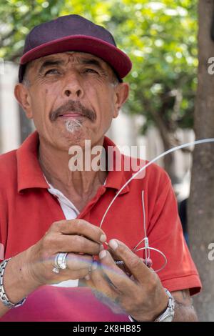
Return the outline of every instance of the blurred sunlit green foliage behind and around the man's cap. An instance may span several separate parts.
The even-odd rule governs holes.
[[[125,111],[160,129],[165,147],[177,127],[193,126],[197,85],[196,0],[7,0],[0,4],[0,57],[19,61],[24,38],[43,21],[81,14],[109,29],[133,61]]]

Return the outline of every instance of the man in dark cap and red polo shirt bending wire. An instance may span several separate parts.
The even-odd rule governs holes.
[[[163,169],[153,164],[133,179],[100,227],[133,172],[69,164],[72,146],[86,152],[86,140],[91,158],[95,146],[115,146],[104,134],[128,98],[122,79],[130,70],[109,31],[81,16],[27,36],[14,93],[36,132],[0,157],[2,321],[197,320],[190,295],[200,280]],[[152,269],[142,250],[133,252],[143,220],[151,246],[168,260],[158,275],[160,255]]]

